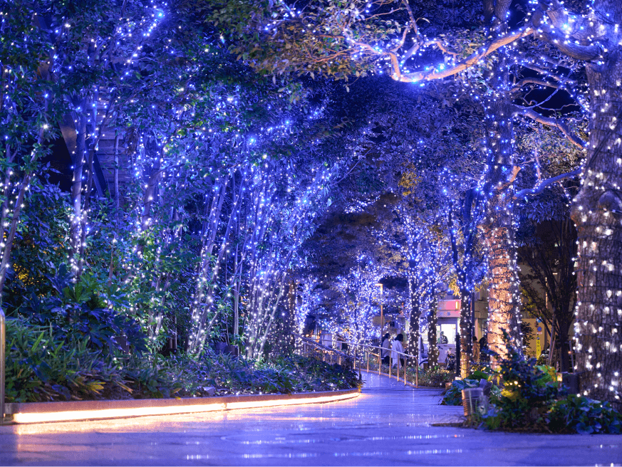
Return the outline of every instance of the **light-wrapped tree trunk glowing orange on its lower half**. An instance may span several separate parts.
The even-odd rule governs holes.
[[[489,202],[482,228],[488,258],[488,348],[503,358],[507,355],[504,332],[514,347],[521,348],[520,287],[512,225],[512,182],[517,170],[512,160],[514,129],[511,103],[492,100],[486,104],[489,172],[484,189]],[[494,367],[497,359],[492,358],[491,362]]]

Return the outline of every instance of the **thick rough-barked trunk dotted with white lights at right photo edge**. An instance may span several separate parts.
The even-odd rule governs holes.
[[[574,325],[581,393],[622,409],[622,46],[586,65],[590,136],[573,200],[579,248]]]

